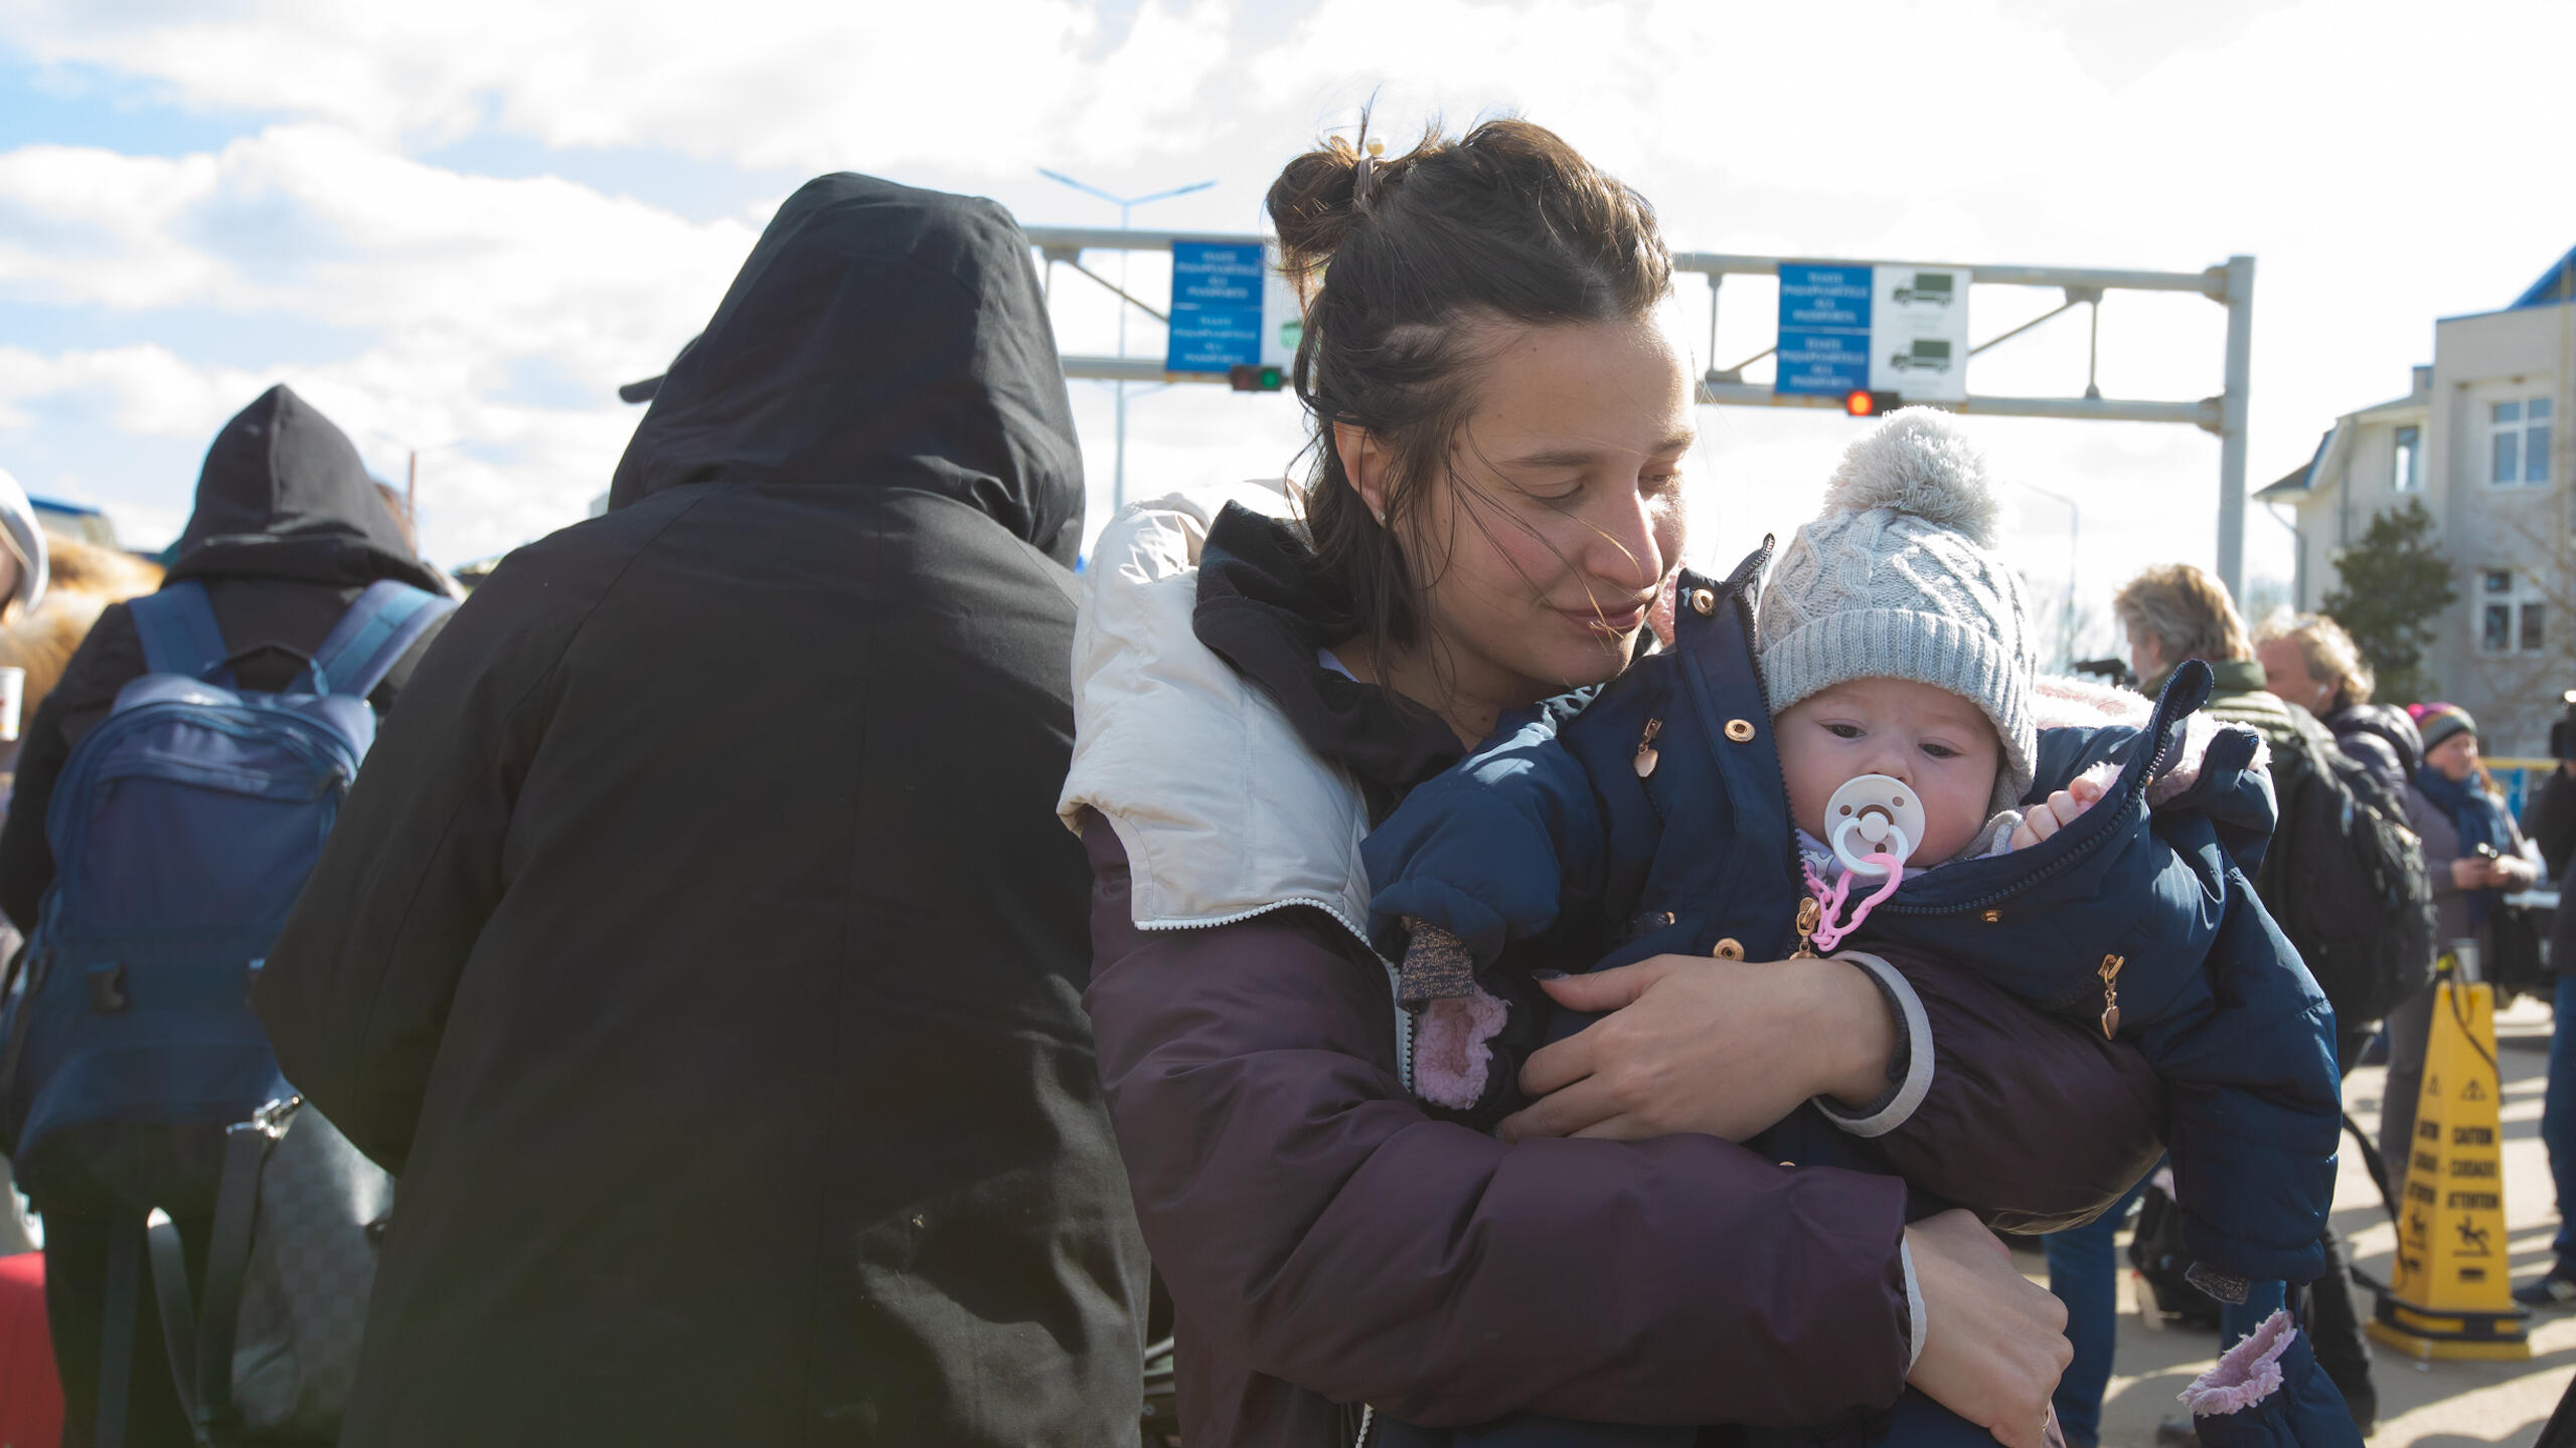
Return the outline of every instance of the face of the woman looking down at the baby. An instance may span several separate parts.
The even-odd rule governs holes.
[[[1646,319],[1507,332],[1406,559],[1466,709],[1600,683],[1682,554],[1690,374]]]

